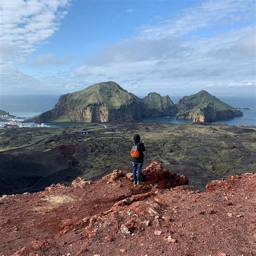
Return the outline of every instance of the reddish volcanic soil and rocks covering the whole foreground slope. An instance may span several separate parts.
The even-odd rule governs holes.
[[[256,174],[192,191],[158,162],[0,198],[1,255],[253,255]],[[172,187],[177,186],[177,187]],[[222,253],[222,254],[221,254]]]

